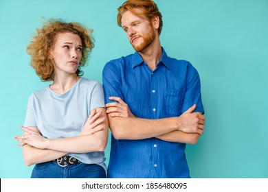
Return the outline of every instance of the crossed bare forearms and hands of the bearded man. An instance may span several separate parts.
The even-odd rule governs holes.
[[[115,139],[156,137],[164,141],[194,144],[203,134],[205,117],[201,112],[193,112],[195,105],[179,117],[142,119],[135,117],[120,97],[109,99],[118,101],[106,105],[110,129]]]

